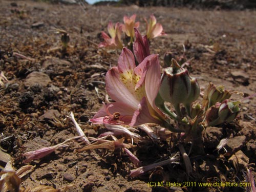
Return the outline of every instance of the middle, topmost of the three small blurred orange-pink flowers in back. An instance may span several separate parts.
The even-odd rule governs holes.
[[[132,15],[131,17],[127,17],[126,15],[123,17],[123,27],[122,30],[125,34],[132,39],[135,37],[134,28],[138,28],[140,26],[139,22],[135,23],[136,14]]]

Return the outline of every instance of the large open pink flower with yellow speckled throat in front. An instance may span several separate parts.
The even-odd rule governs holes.
[[[106,73],[106,91],[116,102],[104,104],[90,119],[95,124],[164,122],[165,115],[155,105],[160,87],[160,65],[157,55],[147,56],[137,67],[133,53],[123,48],[118,66]]]

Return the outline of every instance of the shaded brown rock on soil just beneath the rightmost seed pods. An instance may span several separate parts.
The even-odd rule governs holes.
[[[209,126],[203,133],[204,145],[206,148],[216,148],[223,136],[222,128]]]

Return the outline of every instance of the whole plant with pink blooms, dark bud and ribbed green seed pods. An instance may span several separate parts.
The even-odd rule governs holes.
[[[122,49],[117,67],[105,76],[106,92],[115,102],[103,104],[90,121],[129,126],[155,123],[170,131],[190,133],[196,132],[198,125],[215,126],[234,120],[240,111],[239,102],[229,99],[234,92],[209,83],[200,103],[197,79],[167,53],[164,62],[170,67],[161,75],[158,55],[150,53],[149,41],[164,34],[162,25],[151,15],[149,22],[146,20],[146,35],[141,36],[135,19],[136,15],[124,16],[124,24],[114,27],[109,23],[110,36],[102,32],[105,41],[101,47],[121,48],[121,32],[130,37],[133,47],[132,51]]]

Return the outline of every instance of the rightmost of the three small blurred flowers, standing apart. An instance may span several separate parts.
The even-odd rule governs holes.
[[[148,39],[153,39],[155,37],[165,35],[163,31],[163,26],[161,24],[157,24],[157,19],[153,14],[150,16],[150,23],[148,24],[146,19],[145,22],[146,36]]]

